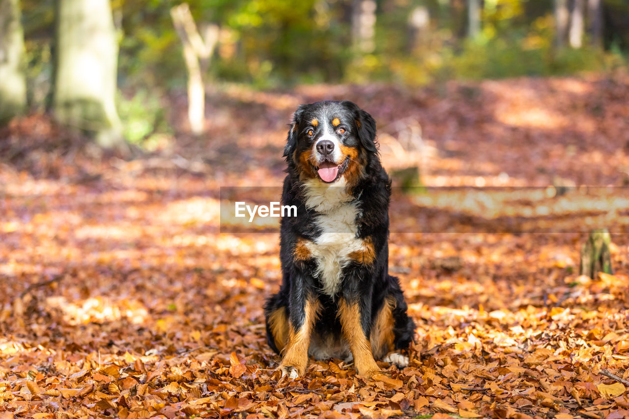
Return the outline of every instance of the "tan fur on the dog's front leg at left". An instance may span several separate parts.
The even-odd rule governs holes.
[[[310,346],[310,337],[312,335],[315,321],[318,318],[320,310],[320,303],[318,299],[306,300],[306,306],[304,307],[304,323],[299,330],[294,330],[292,325],[289,325],[288,343],[284,347],[284,358],[279,368],[293,367],[297,369],[300,376],[306,373],[306,367],[308,367],[308,347]],[[290,321],[289,321],[290,323]]]

